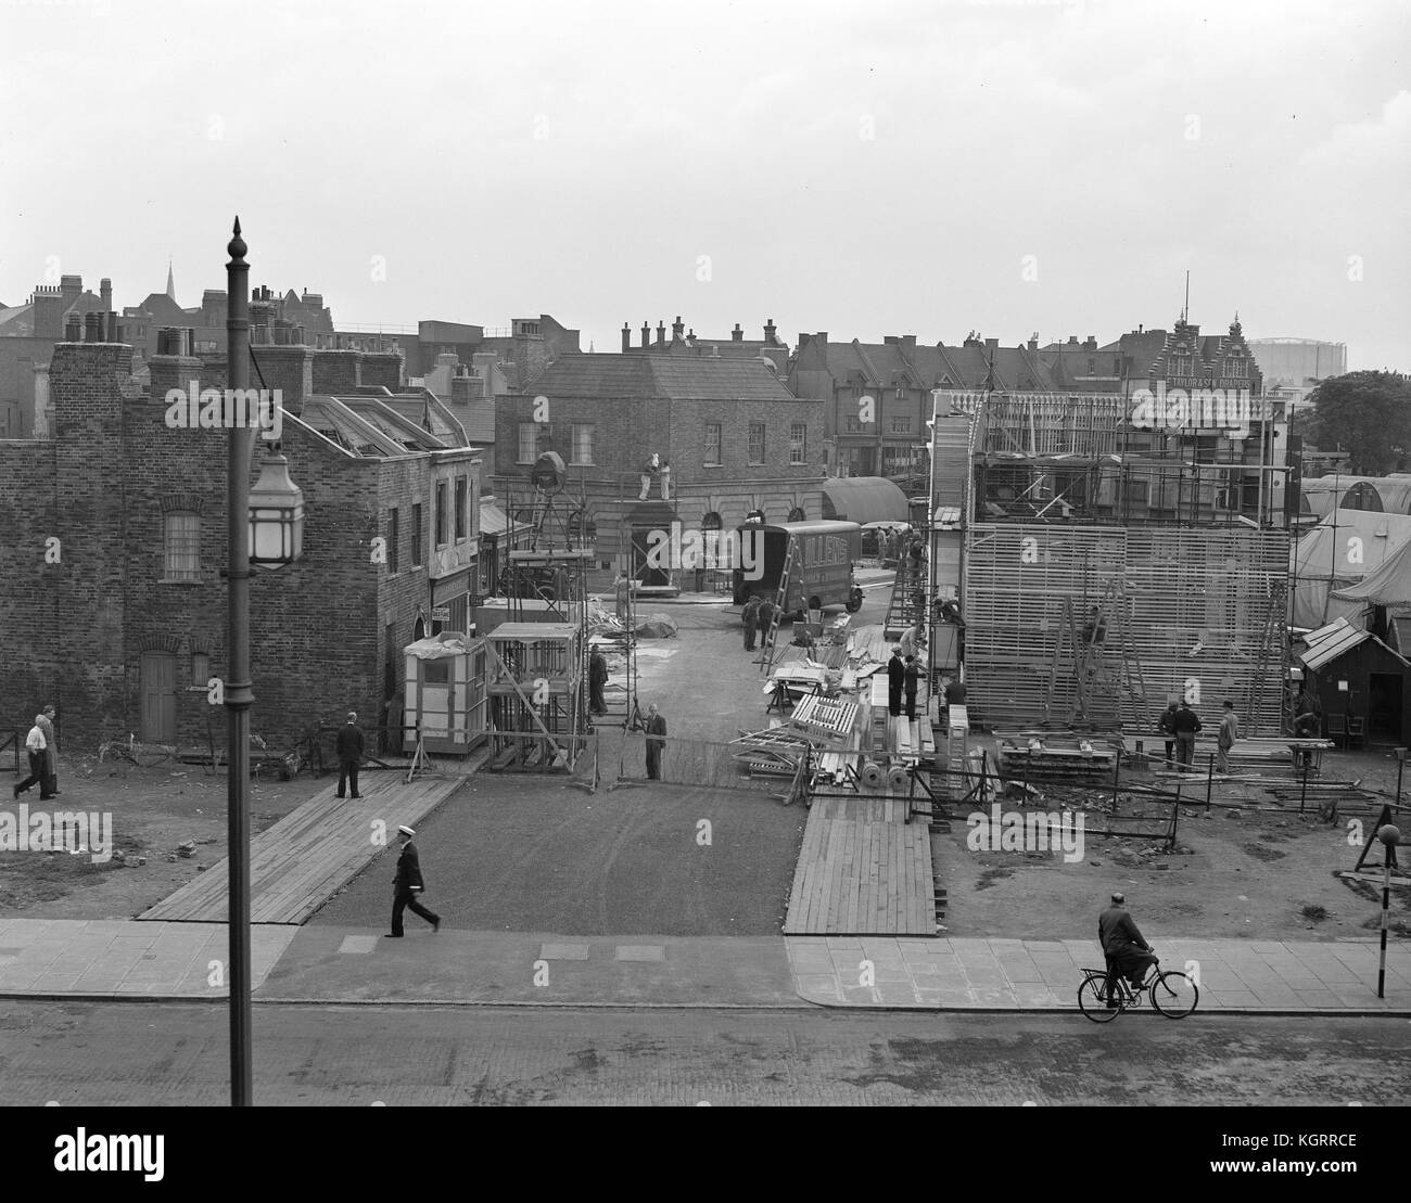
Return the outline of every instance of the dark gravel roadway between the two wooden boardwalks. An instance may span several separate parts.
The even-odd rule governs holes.
[[[426,905],[447,928],[777,935],[804,818],[753,790],[652,783],[587,794],[480,773],[418,825],[416,846]],[[394,863],[384,852],[310,922],[387,924]]]

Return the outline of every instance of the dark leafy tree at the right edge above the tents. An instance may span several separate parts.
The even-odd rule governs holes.
[[[1309,399],[1318,448],[1349,451],[1355,475],[1386,475],[1411,450],[1411,381],[1404,375],[1348,372],[1324,381]]]

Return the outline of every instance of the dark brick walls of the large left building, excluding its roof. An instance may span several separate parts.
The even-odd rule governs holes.
[[[189,381],[195,370],[198,388],[224,385],[214,374],[202,379],[199,361],[166,367],[172,379],[181,372]],[[220,568],[229,436],[168,429],[162,393],[133,396],[128,368],[128,347],[61,344],[51,370],[55,437],[0,443],[0,721],[32,716],[40,701],[54,700],[73,746],[140,732],[143,654],[171,653],[178,742],[205,745],[213,722],[223,746],[224,711],[186,687],[199,684],[193,653],[227,677]],[[305,494],[303,558],[257,570],[250,587],[253,729],[275,747],[349,709],[374,726],[385,616],[394,618],[399,668],[416,605],[429,598],[425,567],[411,568],[405,546],[402,571],[389,578],[373,563],[371,542],[385,533],[385,498],[428,502],[429,457],[350,457],[295,419],[285,422],[284,453]],[[199,513],[195,584],[162,580],[174,508]],[[426,512],[429,520],[429,503]],[[409,537],[409,501],[402,532]],[[59,564],[44,563],[49,533],[62,540]]]

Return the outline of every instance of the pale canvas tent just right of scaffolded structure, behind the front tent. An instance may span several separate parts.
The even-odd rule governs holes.
[[[1366,601],[1346,590],[1379,574],[1411,546],[1411,516],[1336,509],[1290,550],[1292,625],[1319,628],[1336,618],[1362,626]],[[1411,561],[1407,563],[1411,570]]]

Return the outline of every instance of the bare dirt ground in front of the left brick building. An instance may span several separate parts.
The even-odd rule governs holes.
[[[7,769],[10,766],[6,766]],[[0,774],[0,808],[18,815],[40,810],[111,814],[113,846],[106,863],[66,852],[0,852],[0,914],[52,920],[126,920],[141,914],[226,856],[226,773],[200,764],[143,769],[96,756],[63,756],[59,795],[41,802],[38,790],[14,800],[11,773]],[[289,781],[253,778],[251,829],[264,831],[333,781],[302,774]],[[168,860],[179,843],[195,855]],[[138,865],[145,857],[145,865]]]

